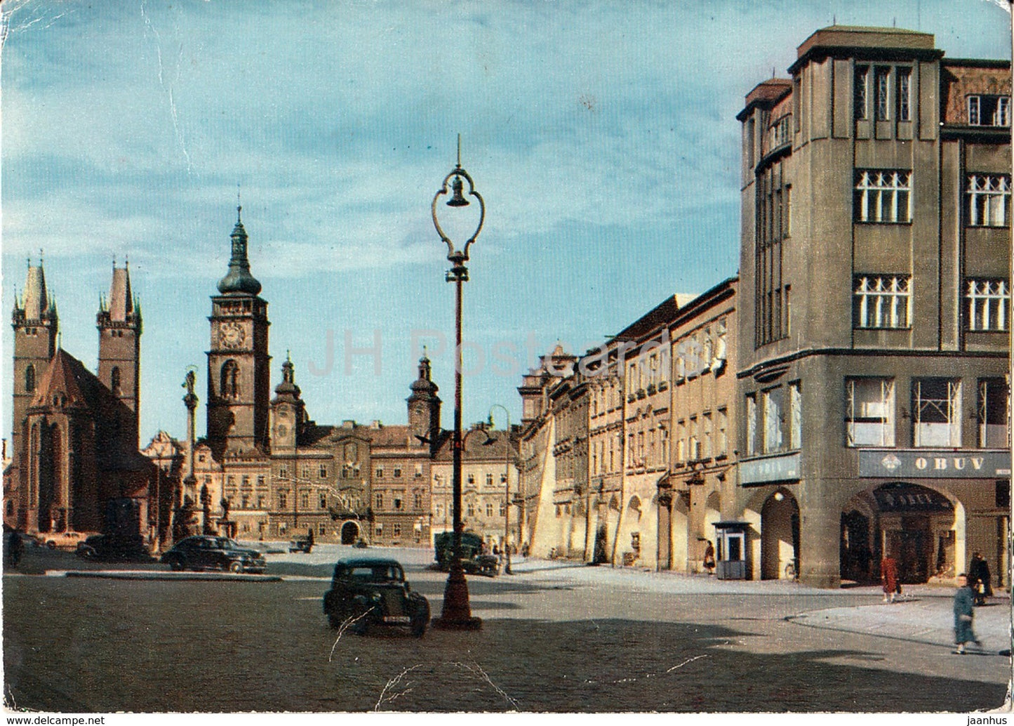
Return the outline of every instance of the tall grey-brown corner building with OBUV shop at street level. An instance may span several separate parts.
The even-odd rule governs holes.
[[[738,502],[753,577],[1007,562],[1010,64],[832,26],[742,122]],[[724,507],[723,507],[724,509]],[[791,569],[789,569],[791,566]]]

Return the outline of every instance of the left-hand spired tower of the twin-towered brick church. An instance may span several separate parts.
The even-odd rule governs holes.
[[[10,452],[14,468],[11,481],[17,481],[18,454],[21,446],[21,425],[39,383],[57,352],[57,334],[60,330],[56,301],[46,288],[43,263],[32,267],[20,299],[14,299],[11,315],[14,328],[14,403],[11,410],[12,431]]]

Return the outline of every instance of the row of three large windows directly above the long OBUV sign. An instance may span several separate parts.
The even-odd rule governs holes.
[[[894,446],[897,408],[893,378],[846,380],[846,442],[849,446]],[[1001,448],[1007,442],[1007,383],[977,381],[976,445]],[[912,381],[914,446],[961,446],[962,381],[919,378]],[[902,416],[910,415],[902,412]]]

